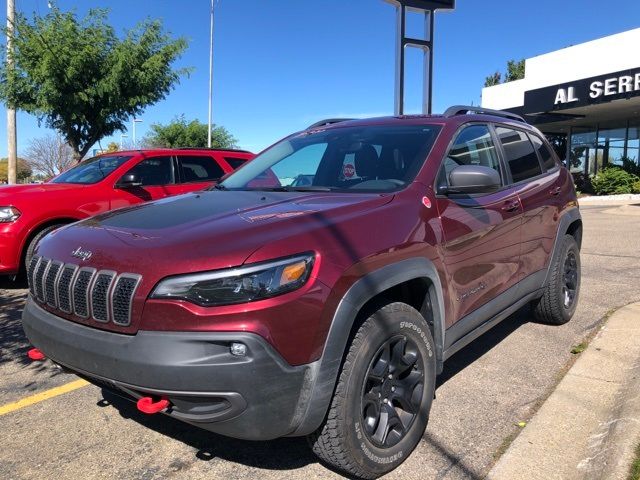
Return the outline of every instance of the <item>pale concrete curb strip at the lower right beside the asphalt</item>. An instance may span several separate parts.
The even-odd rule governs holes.
[[[640,441],[640,302],[616,311],[489,480],[627,478]]]

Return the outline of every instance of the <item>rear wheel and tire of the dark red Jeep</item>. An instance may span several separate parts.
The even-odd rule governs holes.
[[[532,302],[533,314],[541,323],[563,325],[573,317],[580,295],[580,248],[575,238],[565,235],[552,261],[544,293]]]

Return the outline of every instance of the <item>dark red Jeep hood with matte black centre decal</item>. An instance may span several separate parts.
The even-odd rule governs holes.
[[[63,227],[40,243],[38,253],[98,269],[141,273],[155,281],[240,265],[264,245],[325,228],[329,220],[359,215],[391,198],[362,193],[197,192]],[[91,251],[88,261],[78,262],[71,255],[78,247]]]

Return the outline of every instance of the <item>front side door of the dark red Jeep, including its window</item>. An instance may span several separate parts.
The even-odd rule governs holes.
[[[438,184],[448,185],[461,165],[493,168],[507,185],[493,135],[487,125],[474,124],[457,135],[443,159]],[[436,200],[444,242],[450,327],[518,281],[522,206],[515,189],[487,195],[449,195]]]

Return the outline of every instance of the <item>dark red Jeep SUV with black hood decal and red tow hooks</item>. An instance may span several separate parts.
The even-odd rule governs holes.
[[[319,122],[207,191],[46,236],[24,329],[144,412],[305,435],[374,478],[419,443],[447,358],[525,305],[571,318],[581,236],[571,175],[518,116]]]

